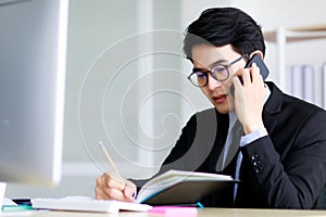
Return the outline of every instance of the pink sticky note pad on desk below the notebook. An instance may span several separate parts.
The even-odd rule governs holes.
[[[197,207],[186,206],[154,206],[149,209],[150,214],[164,214],[164,217],[197,217]]]

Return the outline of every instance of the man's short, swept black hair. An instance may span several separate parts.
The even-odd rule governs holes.
[[[236,8],[212,8],[203,11],[186,29],[184,52],[187,59],[192,61],[192,47],[200,43],[216,47],[231,44],[240,54],[260,50],[265,55],[261,26]]]

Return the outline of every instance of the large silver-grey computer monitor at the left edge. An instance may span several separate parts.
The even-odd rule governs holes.
[[[0,0],[0,181],[61,180],[68,0]]]

